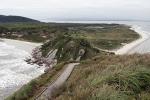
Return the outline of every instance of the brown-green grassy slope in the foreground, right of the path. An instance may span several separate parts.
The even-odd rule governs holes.
[[[82,62],[56,100],[149,100],[150,55],[103,56]]]

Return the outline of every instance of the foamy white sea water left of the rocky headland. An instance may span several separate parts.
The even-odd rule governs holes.
[[[44,72],[44,68],[24,61],[29,56],[22,49],[0,42],[0,100]]]

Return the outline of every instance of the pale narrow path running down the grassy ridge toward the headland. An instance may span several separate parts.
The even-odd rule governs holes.
[[[52,94],[56,92],[69,78],[71,75],[74,67],[78,65],[79,63],[70,63],[68,64],[67,68],[65,71],[58,77],[58,79],[51,85],[47,87],[47,89],[39,96],[36,98],[36,100],[51,100]]]

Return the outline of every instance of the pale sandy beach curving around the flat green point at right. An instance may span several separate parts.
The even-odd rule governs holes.
[[[117,55],[130,54],[131,49],[135,48],[136,46],[146,41],[150,37],[150,35],[148,35],[148,32],[143,31],[140,26],[132,25],[131,29],[137,32],[140,35],[140,38],[114,51],[115,54]]]

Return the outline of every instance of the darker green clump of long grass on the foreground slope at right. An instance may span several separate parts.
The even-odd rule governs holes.
[[[150,86],[150,70],[140,68],[138,70],[115,73],[107,79],[107,83],[124,93],[139,94]]]

